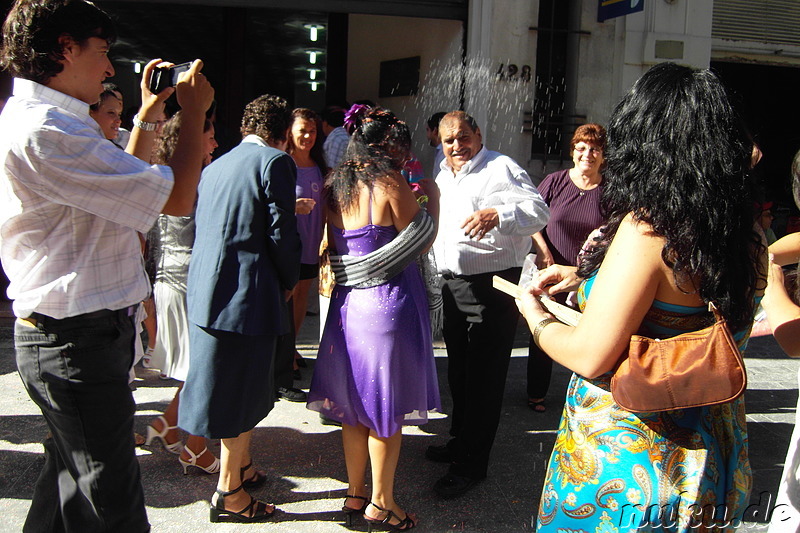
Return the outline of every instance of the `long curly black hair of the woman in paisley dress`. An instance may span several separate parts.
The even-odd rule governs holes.
[[[677,285],[713,301],[734,331],[753,320],[765,253],[750,180],[753,143],[719,79],[672,63],[650,69],[608,126],[605,236],[581,265],[599,268],[623,218],[648,223]]]

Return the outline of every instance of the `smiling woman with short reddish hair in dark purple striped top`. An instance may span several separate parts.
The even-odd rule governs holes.
[[[603,223],[600,193],[606,130],[600,124],[584,124],[575,130],[570,142],[574,166],[548,174],[539,184],[539,194],[550,207],[547,226],[533,236],[536,266],[578,265],[578,252],[586,238]],[[567,295],[556,299],[566,303]],[[533,340],[528,342],[528,407],[544,412],[550,388],[553,360]]]

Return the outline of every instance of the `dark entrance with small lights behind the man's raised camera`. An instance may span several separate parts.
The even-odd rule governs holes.
[[[140,105],[139,70],[149,59],[175,63],[203,59],[203,72],[216,90],[218,154],[238,143],[242,110],[258,95],[276,94],[292,107],[321,109],[327,97],[344,93],[339,84],[345,78],[338,71],[346,71],[342,42],[346,43],[347,30],[341,16],[228,7],[222,2],[216,6],[106,2],[102,7],[117,22],[119,39],[111,53],[116,75],[108,81],[122,88],[126,109],[135,111]],[[337,39],[333,54],[331,36]],[[330,67],[337,72],[329,75]],[[170,114],[176,109],[167,107]]]

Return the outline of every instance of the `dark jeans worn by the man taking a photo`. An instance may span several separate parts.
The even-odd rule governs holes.
[[[17,369],[52,436],[25,532],[149,531],[128,388],[127,309],[17,320]]]

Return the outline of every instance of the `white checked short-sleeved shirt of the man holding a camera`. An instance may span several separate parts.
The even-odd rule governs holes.
[[[18,317],[121,309],[150,292],[136,232],[172,190],[172,170],[103,138],[80,100],[15,79],[0,114],[0,259]]]

